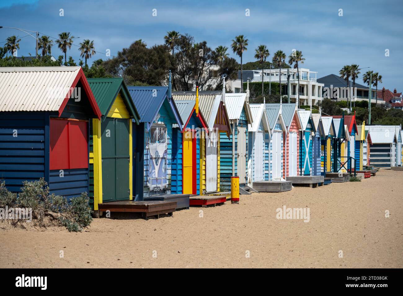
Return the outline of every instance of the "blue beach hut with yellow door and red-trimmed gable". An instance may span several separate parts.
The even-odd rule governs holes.
[[[197,97],[197,95],[196,95]],[[178,128],[174,124],[174,141],[178,151],[182,151],[182,167],[175,170],[177,182],[172,184],[172,193],[197,195],[200,191],[200,139],[202,130],[208,131],[206,120],[199,110],[196,100],[175,101],[183,125]]]

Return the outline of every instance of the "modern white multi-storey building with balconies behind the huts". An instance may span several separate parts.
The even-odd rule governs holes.
[[[287,70],[290,74],[290,85],[291,93],[290,98],[296,99],[297,88],[298,88],[298,76],[297,69],[264,69],[263,70],[263,81],[264,82],[276,82],[280,81],[283,86],[282,94],[288,95],[287,89]],[[318,101],[322,101],[322,89],[324,87],[323,83],[318,83],[316,81],[316,75],[318,72],[310,71],[306,68],[299,68],[299,101],[303,105],[310,105],[312,100],[312,105],[316,105]],[[249,82],[262,82],[262,69],[256,70],[243,70],[242,80],[245,83],[248,79]],[[227,81],[227,89],[233,93],[239,93],[241,91],[241,71],[238,71],[237,80]]]

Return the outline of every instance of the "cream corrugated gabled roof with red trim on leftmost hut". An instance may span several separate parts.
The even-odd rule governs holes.
[[[71,89],[81,82],[91,108],[101,112],[81,67],[0,68],[1,111],[58,111],[62,114]]]

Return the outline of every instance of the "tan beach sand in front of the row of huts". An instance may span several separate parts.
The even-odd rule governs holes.
[[[242,195],[239,205],[173,217],[112,213],[82,233],[0,223],[0,268],[402,268],[402,181],[403,172],[380,170],[361,182]],[[309,208],[310,221],[276,219],[283,205]]]

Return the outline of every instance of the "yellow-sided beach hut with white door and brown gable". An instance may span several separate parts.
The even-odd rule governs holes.
[[[227,139],[232,133],[224,102],[225,92],[199,91],[199,110],[204,115],[208,134],[202,131],[200,143],[199,195],[220,191],[220,134]],[[174,101],[195,100],[195,91],[172,92]]]

